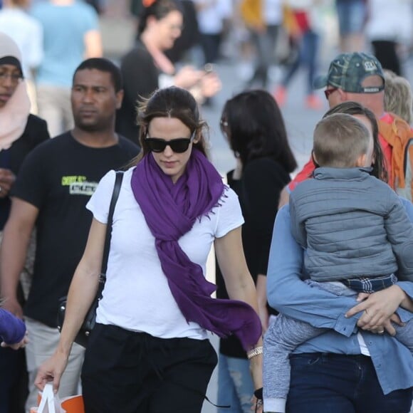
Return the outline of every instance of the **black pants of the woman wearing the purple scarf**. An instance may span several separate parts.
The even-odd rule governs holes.
[[[216,366],[209,340],[93,329],[82,371],[86,413],[197,413]]]

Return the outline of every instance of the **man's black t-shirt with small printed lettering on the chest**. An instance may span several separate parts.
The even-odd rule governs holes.
[[[66,132],[36,147],[23,162],[12,196],[39,209],[25,315],[56,327],[58,299],[68,293],[88,238],[92,214],[85,205],[103,175],[124,167],[137,152],[124,137],[117,145],[96,148]]]

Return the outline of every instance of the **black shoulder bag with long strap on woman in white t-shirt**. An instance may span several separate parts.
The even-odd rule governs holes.
[[[106,268],[108,268],[108,256],[110,249],[110,237],[112,234],[112,221],[113,221],[113,211],[115,211],[115,205],[117,202],[117,197],[119,197],[120,186],[122,185],[123,172],[116,172],[115,186],[113,187],[112,199],[110,199],[109,206],[109,215],[108,215],[108,224],[106,225],[106,236],[105,236],[105,248],[103,249],[103,261],[102,261],[102,270],[100,271],[99,277],[99,287],[96,297],[93,300],[92,305],[88,310],[88,313],[83,320],[83,324],[80,327],[78,335],[76,335],[75,343],[86,347],[88,345],[88,338],[90,332],[95,327],[96,321],[96,309],[98,308],[100,298],[102,298],[103,288],[105,287],[106,281]],[[66,302],[68,297],[62,297],[59,300],[59,309],[58,309],[58,330],[62,330],[63,321],[65,319],[66,312]]]

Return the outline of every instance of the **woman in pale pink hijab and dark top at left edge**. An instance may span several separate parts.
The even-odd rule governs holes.
[[[49,138],[46,122],[29,110],[19,48],[9,36],[0,33],[0,231],[9,216],[9,192],[24,158]],[[16,392],[16,388],[25,388],[21,382],[26,375],[23,351],[0,348],[0,413],[23,412],[26,397]]]

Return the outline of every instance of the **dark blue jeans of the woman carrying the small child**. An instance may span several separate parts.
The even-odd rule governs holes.
[[[383,394],[370,357],[291,355],[287,413],[408,413],[412,389]]]

